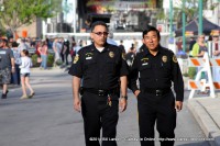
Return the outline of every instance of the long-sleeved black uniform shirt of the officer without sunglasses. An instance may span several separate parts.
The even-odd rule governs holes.
[[[133,92],[138,90],[139,72],[140,89],[166,89],[172,87],[173,81],[176,100],[183,101],[183,76],[172,50],[158,46],[158,53],[153,56],[145,47],[143,52],[136,54],[130,75],[130,88]]]

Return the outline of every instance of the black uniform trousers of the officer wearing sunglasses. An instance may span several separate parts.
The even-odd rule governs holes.
[[[119,119],[119,100],[111,94],[111,106],[107,104],[108,96],[85,91],[81,97],[81,112],[86,146],[117,146],[117,124]],[[100,130],[102,137],[100,138]]]

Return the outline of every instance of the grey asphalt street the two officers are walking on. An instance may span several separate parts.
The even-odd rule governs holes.
[[[73,110],[72,77],[67,71],[58,68],[33,69],[31,83],[35,90],[33,99],[20,100],[21,88],[10,87],[8,99],[0,100],[0,146],[84,146],[82,117]],[[217,141],[209,143],[207,137],[219,132],[219,116],[211,116],[219,115],[219,99],[196,98],[188,101],[188,93],[186,90],[184,109],[177,113],[175,145],[215,144]],[[119,113],[118,145],[140,146],[136,99],[131,91],[128,102],[127,111]],[[194,105],[195,102],[197,105]],[[199,112],[201,106],[206,113]],[[218,123],[216,127],[211,126],[209,133],[200,124],[201,121],[208,121],[204,119],[205,115],[211,116],[215,124]],[[210,121],[206,124],[209,125]],[[158,146],[157,133],[155,138]]]

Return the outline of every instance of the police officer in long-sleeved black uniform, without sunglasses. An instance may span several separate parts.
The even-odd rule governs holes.
[[[173,146],[176,111],[184,100],[184,81],[174,53],[160,45],[160,32],[148,26],[143,31],[145,47],[138,53],[130,76],[130,88],[138,98],[140,141],[154,146],[154,125],[162,146]],[[140,74],[140,77],[139,77]],[[140,88],[136,86],[139,78]],[[172,82],[176,98],[172,92]]]

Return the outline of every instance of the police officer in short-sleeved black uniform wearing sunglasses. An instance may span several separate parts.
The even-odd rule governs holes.
[[[74,109],[80,111],[81,105],[87,146],[100,146],[100,128],[102,146],[117,146],[119,106],[122,112],[127,109],[128,66],[122,50],[107,43],[105,22],[97,21],[91,25],[90,37],[94,43],[78,52],[69,69],[74,76]]]

